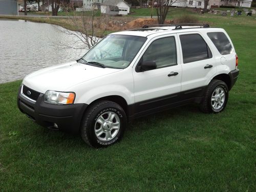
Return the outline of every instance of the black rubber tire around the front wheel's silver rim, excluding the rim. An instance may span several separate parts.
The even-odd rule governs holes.
[[[109,146],[112,145],[113,143],[116,143],[118,140],[120,140],[123,136],[125,127],[126,127],[126,115],[124,113],[124,111],[119,107],[119,105],[117,106],[102,106],[101,108],[95,110],[92,115],[89,117],[89,123],[88,123],[88,135],[90,137],[90,141],[91,144],[95,147],[105,147],[105,146]],[[95,135],[95,123],[96,120],[98,119],[98,117],[100,115],[102,115],[105,112],[114,112],[118,115],[119,120],[120,120],[120,128],[119,131],[117,133],[117,135],[111,139],[110,141],[101,141],[97,138],[97,136]]]

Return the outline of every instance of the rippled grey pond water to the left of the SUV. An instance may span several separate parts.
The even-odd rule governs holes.
[[[77,37],[61,30],[65,31],[51,24],[0,19],[0,83],[23,79],[33,71],[77,59],[87,52],[69,48],[75,46]]]

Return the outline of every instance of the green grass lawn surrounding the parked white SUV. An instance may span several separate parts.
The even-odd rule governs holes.
[[[95,150],[20,113],[22,81],[0,84],[0,191],[255,191],[255,16],[196,16],[224,28],[239,56],[222,113],[171,109],[130,123],[121,142]]]

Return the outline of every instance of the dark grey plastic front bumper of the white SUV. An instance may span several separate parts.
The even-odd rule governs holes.
[[[54,123],[59,130],[78,133],[87,104],[57,105],[44,102],[44,94],[40,94],[37,101],[25,98],[19,88],[18,109],[41,126],[52,128]]]

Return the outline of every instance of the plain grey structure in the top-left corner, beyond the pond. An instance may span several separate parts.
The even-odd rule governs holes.
[[[17,15],[17,0],[0,0],[0,15]]]

